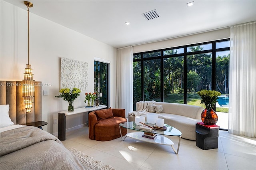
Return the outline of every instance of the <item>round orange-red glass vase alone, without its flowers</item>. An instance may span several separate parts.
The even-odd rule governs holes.
[[[201,114],[201,120],[205,125],[215,125],[218,122],[218,115],[211,109],[204,109]]]

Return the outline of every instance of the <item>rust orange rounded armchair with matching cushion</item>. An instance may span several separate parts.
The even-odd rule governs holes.
[[[121,137],[119,124],[127,122],[125,109],[103,109],[92,111],[88,115],[89,138],[107,141]],[[122,136],[127,129],[121,127]]]

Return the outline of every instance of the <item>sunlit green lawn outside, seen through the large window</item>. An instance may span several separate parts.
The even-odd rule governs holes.
[[[187,104],[188,105],[196,105],[205,108],[204,104],[201,104],[201,98],[197,93],[188,93],[187,94]],[[154,101],[160,101],[160,99],[152,99]],[[184,95],[183,94],[169,94],[167,97],[164,98],[164,102],[169,103],[184,103]],[[224,112],[228,113],[228,108],[223,107],[216,107],[216,112]]]

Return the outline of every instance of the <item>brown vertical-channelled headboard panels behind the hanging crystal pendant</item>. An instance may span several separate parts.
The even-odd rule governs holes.
[[[14,124],[42,121],[42,82],[35,82],[35,97],[31,113],[26,113],[22,98],[22,81],[0,81],[0,105],[9,105]]]

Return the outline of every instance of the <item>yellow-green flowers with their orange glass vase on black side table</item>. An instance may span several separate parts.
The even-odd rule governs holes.
[[[197,94],[201,97],[201,103],[205,104],[205,109],[202,111],[201,120],[205,125],[215,125],[218,121],[218,115],[212,109],[216,102],[218,102],[218,96],[220,92],[215,90],[201,90]]]

